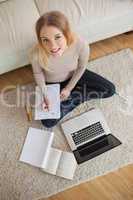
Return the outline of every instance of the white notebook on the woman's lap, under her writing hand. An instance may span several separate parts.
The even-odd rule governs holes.
[[[35,120],[60,118],[60,85],[48,84],[46,87],[47,87],[47,96],[51,102],[51,108],[49,111],[43,110],[42,91],[40,87],[36,86]]]

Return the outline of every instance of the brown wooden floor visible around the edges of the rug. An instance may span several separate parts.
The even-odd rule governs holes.
[[[90,60],[116,52],[133,50],[133,32],[122,34],[90,45]],[[33,82],[31,66],[22,67],[0,75],[0,90],[9,85]],[[133,200],[133,165],[80,184],[61,192],[48,200]],[[44,199],[41,199],[44,200]]]

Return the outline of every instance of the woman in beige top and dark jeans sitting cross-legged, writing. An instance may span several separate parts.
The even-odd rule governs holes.
[[[86,100],[107,98],[115,93],[110,81],[86,69],[89,46],[72,33],[64,14],[51,11],[42,15],[36,22],[36,35],[38,44],[30,53],[30,61],[35,81],[44,95],[44,110],[49,110],[51,103],[46,84],[60,84],[61,118]],[[52,127],[60,119],[41,121]]]

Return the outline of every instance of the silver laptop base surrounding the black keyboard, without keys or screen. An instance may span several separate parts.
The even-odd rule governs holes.
[[[100,135],[98,135],[92,139],[88,139],[85,142],[81,142],[80,144],[75,144],[73,137],[72,137],[73,133],[76,133],[88,126],[92,126],[93,124],[97,124],[99,122],[103,128],[103,132]],[[97,137],[100,137],[104,134],[110,133],[110,129],[105,121],[105,118],[104,118],[102,112],[100,111],[100,109],[98,109],[98,108],[89,110],[87,112],[84,112],[84,113],[72,118],[72,119],[69,119],[69,120],[63,122],[61,124],[61,127],[63,129],[63,132],[64,132],[72,150],[77,149],[78,146],[81,146]]]

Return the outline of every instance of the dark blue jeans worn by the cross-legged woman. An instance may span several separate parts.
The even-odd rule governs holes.
[[[59,83],[61,90],[67,85],[69,80],[70,79]],[[52,83],[47,82],[47,84]],[[86,69],[82,77],[71,91],[68,99],[61,102],[61,117],[59,119],[45,119],[41,120],[41,122],[45,127],[51,128],[79,104],[90,99],[111,97],[114,93],[115,86],[113,83]]]

